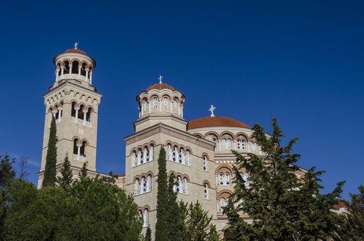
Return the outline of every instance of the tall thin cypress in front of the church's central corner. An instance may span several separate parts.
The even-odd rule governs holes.
[[[156,194],[156,241],[168,241],[168,176],[167,160],[165,160],[165,149],[161,147],[158,158],[158,190]]]

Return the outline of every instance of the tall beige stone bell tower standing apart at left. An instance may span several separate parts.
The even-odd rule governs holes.
[[[96,61],[76,43],[74,49],[55,56],[53,63],[55,81],[43,95],[45,122],[38,187],[43,181],[52,116],[57,123],[57,172],[66,153],[74,175],[86,161],[90,172],[96,171],[97,113],[102,96],[92,85]]]

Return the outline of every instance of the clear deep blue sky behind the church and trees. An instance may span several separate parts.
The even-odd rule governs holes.
[[[363,182],[363,1],[3,1],[0,153],[41,162],[52,58],[79,41],[97,61],[97,169],[122,173],[135,96],[159,74],[186,95],[185,118],[216,114],[299,137],[299,165],[325,191]],[[345,5],[343,5],[345,3]]]

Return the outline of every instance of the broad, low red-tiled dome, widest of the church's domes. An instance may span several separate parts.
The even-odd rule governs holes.
[[[241,127],[251,129],[249,125],[236,121],[234,118],[223,116],[205,116],[188,122],[188,129],[206,127]]]

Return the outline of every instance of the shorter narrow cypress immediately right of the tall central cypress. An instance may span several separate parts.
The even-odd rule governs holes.
[[[176,184],[174,174],[170,175],[168,180],[168,238],[169,240],[182,240],[183,222],[178,222],[176,217],[179,216],[179,205],[177,202],[177,193],[173,187]]]

